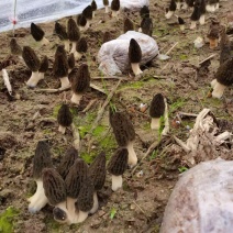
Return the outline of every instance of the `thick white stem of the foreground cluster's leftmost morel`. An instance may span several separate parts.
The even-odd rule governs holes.
[[[35,180],[36,181],[36,191],[35,193],[29,198],[29,211],[31,213],[38,212],[45,204],[48,202],[43,187],[43,181],[41,179]]]

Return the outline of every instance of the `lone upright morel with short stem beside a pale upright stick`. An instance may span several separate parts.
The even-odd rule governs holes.
[[[152,118],[151,129],[159,130],[160,127],[160,116],[165,113],[165,101],[162,93],[157,93],[152,99],[149,106],[149,115]]]

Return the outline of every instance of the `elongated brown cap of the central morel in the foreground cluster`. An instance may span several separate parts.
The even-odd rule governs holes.
[[[81,158],[77,158],[65,179],[67,196],[70,198],[77,198],[80,188],[87,178],[88,165]]]

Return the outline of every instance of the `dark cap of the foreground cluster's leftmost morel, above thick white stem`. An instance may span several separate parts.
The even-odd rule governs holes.
[[[38,141],[33,158],[33,177],[42,178],[42,170],[46,167],[53,167],[49,146],[45,141]]]

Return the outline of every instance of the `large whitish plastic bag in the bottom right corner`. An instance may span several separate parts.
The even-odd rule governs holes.
[[[160,233],[232,233],[233,162],[217,158],[182,174],[164,213]]]

